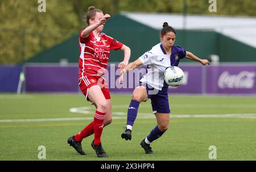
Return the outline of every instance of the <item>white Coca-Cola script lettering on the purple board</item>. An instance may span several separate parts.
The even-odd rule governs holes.
[[[241,71],[237,75],[231,75],[228,71],[224,71],[218,78],[218,87],[250,89],[254,86],[254,77],[255,72]]]

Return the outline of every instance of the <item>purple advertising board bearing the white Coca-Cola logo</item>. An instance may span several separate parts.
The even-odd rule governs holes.
[[[256,65],[207,67],[207,93],[255,94]]]

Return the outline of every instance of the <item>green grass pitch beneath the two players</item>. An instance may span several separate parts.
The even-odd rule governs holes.
[[[112,94],[113,123],[102,134],[109,158],[100,159],[90,147],[93,136],[82,141],[86,156],[67,144],[93,118],[94,106],[82,94],[0,94],[0,160],[39,160],[40,145],[46,160],[209,160],[210,145],[217,160],[256,160],[256,97],[170,95],[170,125],[151,144],[155,154],[139,145],[156,126],[150,100],[140,105],[132,139],[121,139],[130,98]]]

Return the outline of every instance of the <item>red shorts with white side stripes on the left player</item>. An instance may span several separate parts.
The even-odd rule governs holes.
[[[79,79],[79,86],[86,100],[90,101],[88,98],[88,89],[93,85],[99,85],[106,100],[110,99],[109,88],[108,84],[105,82],[105,79],[103,79],[101,76],[84,76]]]

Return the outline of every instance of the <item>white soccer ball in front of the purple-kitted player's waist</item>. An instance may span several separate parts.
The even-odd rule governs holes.
[[[164,71],[164,80],[171,87],[177,87],[183,83],[184,72],[177,66],[171,66]]]

